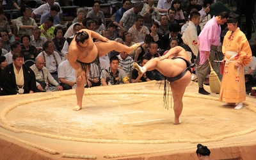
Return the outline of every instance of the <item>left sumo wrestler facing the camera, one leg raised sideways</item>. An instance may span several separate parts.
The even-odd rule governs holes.
[[[93,43],[92,38],[101,40]],[[99,57],[104,56],[108,52],[115,50],[117,52],[131,53],[137,49],[140,44],[134,44],[131,47],[108,40],[98,33],[81,29],[68,47],[68,61],[70,65],[76,70],[76,98],[77,104],[73,108],[74,111],[79,111],[82,108],[84,84],[86,83],[86,75],[89,72],[90,63],[97,61]]]

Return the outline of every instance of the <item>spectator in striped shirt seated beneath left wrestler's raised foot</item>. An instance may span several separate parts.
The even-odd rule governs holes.
[[[127,74],[127,77],[131,77],[134,60],[131,58],[131,56],[128,56],[127,52],[120,52],[117,57],[119,59],[119,68],[124,70],[124,72]]]

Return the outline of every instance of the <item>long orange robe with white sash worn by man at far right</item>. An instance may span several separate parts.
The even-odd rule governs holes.
[[[252,51],[246,36],[239,28],[228,31],[223,40],[222,52],[225,67],[220,88],[220,99],[224,102],[243,102],[246,100],[244,66],[252,60]],[[240,63],[240,67],[234,68]]]

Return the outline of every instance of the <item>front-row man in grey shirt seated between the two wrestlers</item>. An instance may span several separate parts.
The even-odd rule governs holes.
[[[100,82],[102,86],[129,83],[129,77],[126,76],[124,70],[118,68],[118,57],[111,57],[109,65],[110,67],[106,70],[102,70],[100,74]]]

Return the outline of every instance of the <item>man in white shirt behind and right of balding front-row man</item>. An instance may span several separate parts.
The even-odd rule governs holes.
[[[56,81],[58,81],[58,72],[57,68],[58,65],[61,63],[60,54],[58,52],[54,51],[54,44],[51,40],[47,40],[44,43],[43,51],[38,54],[38,56],[44,57],[45,63],[44,66],[49,70],[52,77]]]

